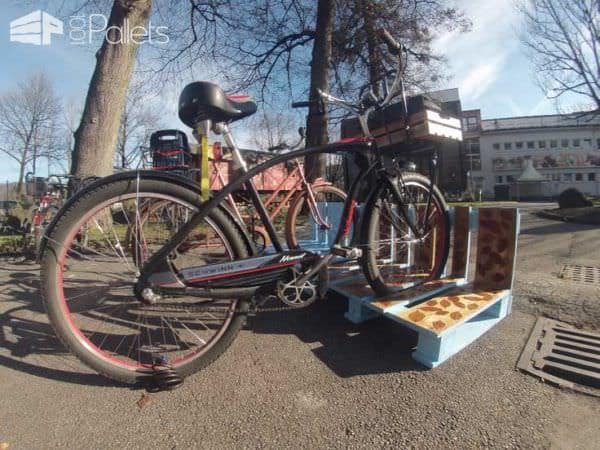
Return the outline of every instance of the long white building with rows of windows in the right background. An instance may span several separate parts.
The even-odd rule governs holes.
[[[463,111],[467,185],[485,198],[555,198],[569,187],[600,196],[600,117],[581,114],[481,120]]]

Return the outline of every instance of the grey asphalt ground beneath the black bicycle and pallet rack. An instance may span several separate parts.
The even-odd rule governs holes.
[[[598,288],[580,295],[583,287],[556,273],[565,261],[593,261],[599,233],[526,214],[513,314],[435,370],[410,359],[414,335],[385,319],[352,325],[345,302],[331,297],[259,315],[213,365],[158,394],[114,386],[66,354],[41,310],[35,266],[5,263],[0,443],[600,448],[598,399],[515,370],[536,314],[597,325]]]

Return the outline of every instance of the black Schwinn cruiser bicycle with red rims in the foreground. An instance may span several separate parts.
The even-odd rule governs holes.
[[[254,113],[256,104],[227,98],[215,84],[195,82],[180,96],[180,118],[193,128],[222,134],[242,175],[205,202],[191,181],[146,171],[109,176],[72,197],[47,230],[41,270],[44,304],[66,347],[114,380],[161,380],[172,386],[223,353],[246,316],[266,299],[299,308],[323,296],[327,268],[338,257],[358,261],[377,295],[439,277],[449,247],[444,198],[434,178],[403,170],[401,155],[383,151],[369,131],[369,114],[383,113],[398,95],[408,118],[402,53],[409,53],[387,32],[381,37],[398,58],[391,87],[382,82],[383,95],[368,92],[354,105],[319,91],[318,98],[293,105],[322,108],[327,101],[344,108],[359,118],[364,137],[278,155],[248,169],[228,125]],[[361,172],[347,193],[329,251],[286,250],[252,177],[320,153],[352,156]],[[377,182],[371,183],[358,215],[359,188],[372,177]],[[269,233],[273,253],[258,254],[245,225],[224,204],[242,186]],[[142,224],[139,208],[147,202],[161,205],[164,213]],[[166,219],[170,211],[185,220]],[[138,230],[136,247],[145,249],[138,261],[122,245],[131,226]],[[79,239],[82,230],[87,244]],[[182,246],[187,250],[178,252]]]

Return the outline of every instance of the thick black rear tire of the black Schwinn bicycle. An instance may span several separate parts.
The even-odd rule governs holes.
[[[138,185],[136,186],[136,184]],[[64,270],[61,268],[61,264],[64,267],[64,262],[61,263],[60,261],[61,254],[63,254],[61,252],[67,251],[63,250],[69,245],[69,242],[66,241],[69,241],[70,236],[77,232],[76,227],[78,223],[81,223],[81,217],[87,211],[95,208],[96,205],[118,196],[136,192],[136,189],[139,193],[157,193],[179,199],[196,208],[200,206],[200,200],[196,192],[164,180],[142,178],[139,183],[131,180],[117,180],[105,184],[96,184],[91,190],[87,189],[78,193],[78,198],[74,199],[70,207],[60,213],[56,227],[53,228],[51,235],[48,237],[47,249],[41,266],[43,303],[58,338],[67,349],[88,367],[110,379],[128,384],[148,382],[153,376],[152,370],[147,367],[123,367],[103,357],[97,349],[90,348],[90,343],[82,339],[83,332],[75,329],[76,326],[71,320],[71,313],[67,311],[67,302],[64,292],[61,290],[62,273],[59,276],[59,272]],[[211,212],[209,218],[222,232],[235,259],[249,256],[242,236],[223,212],[215,209]],[[176,366],[177,373],[180,376],[188,376],[218,358],[231,345],[243,327],[248,309],[249,301],[247,299],[236,299],[235,308],[231,309],[227,328],[220,332],[217,340],[207,351],[199,353],[197,357],[184,360],[182,364]]]

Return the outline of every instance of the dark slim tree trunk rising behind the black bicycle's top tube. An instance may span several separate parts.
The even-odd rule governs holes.
[[[335,0],[319,0],[317,26],[310,65],[310,99],[319,98],[317,89],[329,92],[331,68],[331,35],[335,15]],[[317,106],[311,106],[306,119],[306,146],[314,147],[328,142],[327,108],[321,114]],[[306,175],[310,181],[325,176],[325,156],[313,155],[306,158]]]

